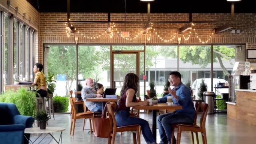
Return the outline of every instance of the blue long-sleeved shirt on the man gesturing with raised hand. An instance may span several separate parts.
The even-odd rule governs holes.
[[[186,113],[186,115],[188,115],[192,120],[194,120],[196,110],[194,108],[194,103],[192,102],[190,89],[182,82],[180,82],[180,84],[175,89],[176,95],[178,96],[177,100],[175,100],[174,96],[172,96],[171,93],[169,93],[166,96],[159,98],[158,103],[166,103],[167,96],[172,96],[173,104],[182,106],[182,110],[176,111]],[[174,88],[172,90],[174,90]]]

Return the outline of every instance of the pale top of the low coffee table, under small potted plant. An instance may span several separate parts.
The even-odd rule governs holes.
[[[60,127],[49,127],[46,126],[45,130],[40,130],[40,127],[36,128],[25,128],[25,134],[42,134],[42,133],[51,133],[51,132],[61,132],[66,130],[65,128]]]

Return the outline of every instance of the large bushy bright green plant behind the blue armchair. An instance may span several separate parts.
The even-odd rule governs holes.
[[[36,93],[21,87],[17,91],[6,90],[0,95],[0,102],[10,102],[17,106],[21,115],[36,115]]]

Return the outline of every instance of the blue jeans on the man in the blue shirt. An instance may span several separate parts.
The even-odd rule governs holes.
[[[167,114],[162,114],[156,118],[158,125],[158,130],[160,134],[161,141],[164,143],[171,142],[172,139],[172,125],[177,123],[191,123],[193,124],[194,120],[191,120],[189,116],[182,112],[170,112]],[[174,141],[176,141],[174,136]]]

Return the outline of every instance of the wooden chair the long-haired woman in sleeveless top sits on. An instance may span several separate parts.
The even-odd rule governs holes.
[[[108,144],[114,144],[115,143],[115,138],[116,138],[116,133],[117,132],[127,132],[127,131],[139,131],[140,130],[140,125],[138,124],[133,124],[133,125],[128,125],[128,126],[116,126],[116,118],[114,115],[114,110],[116,109],[116,103],[115,102],[107,102],[107,109],[108,109],[108,116],[110,118],[110,128],[109,128],[109,136],[108,136]],[[138,133],[132,133],[133,136],[133,143],[140,144],[140,134]],[[137,136],[137,140],[136,140]]]

